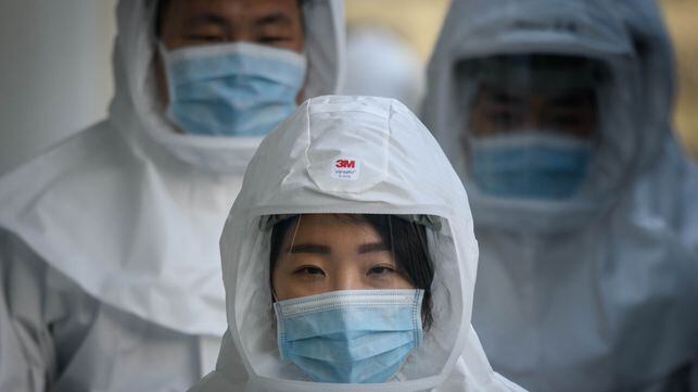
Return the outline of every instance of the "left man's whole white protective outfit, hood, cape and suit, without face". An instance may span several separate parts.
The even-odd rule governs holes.
[[[342,3],[302,11],[304,92],[335,91]],[[0,179],[2,289],[40,380],[15,390],[183,390],[226,329],[217,241],[261,138],[176,132],[155,92],[155,1],[116,12],[109,118]]]

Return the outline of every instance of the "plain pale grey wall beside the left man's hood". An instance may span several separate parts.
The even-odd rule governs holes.
[[[0,0],[0,174],[103,118],[116,0]]]

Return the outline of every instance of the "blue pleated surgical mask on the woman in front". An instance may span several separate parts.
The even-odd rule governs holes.
[[[421,345],[423,290],[346,290],[274,304],[281,359],[318,382],[379,383]]]

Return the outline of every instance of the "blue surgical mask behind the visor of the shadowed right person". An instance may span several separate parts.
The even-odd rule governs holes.
[[[470,139],[469,175],[502,198],[566,199],[586,178],[591,141],[559,134],[519,132]]]

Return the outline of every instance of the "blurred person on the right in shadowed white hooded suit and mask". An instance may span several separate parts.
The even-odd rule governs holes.
[[[671,66],[649,0],[448,13],[423,117],[472,205],[473,326],[531,391],[690,388],[698,176],[669,124]]]

